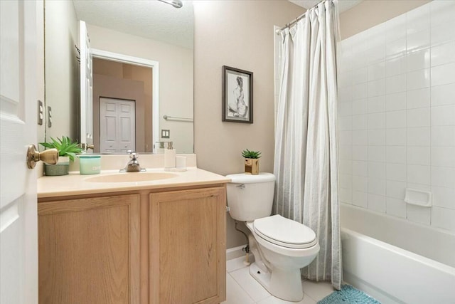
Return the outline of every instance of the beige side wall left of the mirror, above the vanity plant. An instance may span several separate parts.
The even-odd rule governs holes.
[[[52,107],[53,126],[46,140],[77,138],[79,121],[78,21],[73,1],[45,1],[45,104]],[[41,132],[44,129],[41,128]],[[38,135],[38,138],[43,138]]]

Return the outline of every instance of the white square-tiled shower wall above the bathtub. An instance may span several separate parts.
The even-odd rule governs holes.
[[[455,1],[341,41],[338,101],[341,201],[455,232]]]

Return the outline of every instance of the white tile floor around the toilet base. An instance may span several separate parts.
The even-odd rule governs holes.
[[[295,304],[275,298],[261,284],[250,276],[243,263],[245,257],[235,258],[226,263],[226,300],[222,304]],[[333,293],[331,283],[303,281],[304,299],[299,304],[316,304]]]

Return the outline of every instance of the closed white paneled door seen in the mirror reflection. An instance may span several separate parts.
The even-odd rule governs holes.
[[[134,100],[100,98],[100,145],[102,153],[136,150]]]

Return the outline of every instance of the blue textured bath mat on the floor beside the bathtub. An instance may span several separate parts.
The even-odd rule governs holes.
[[[381,304],[375,298],[371,298],[363,291],[353,288],[351,285],[341,286],[341,290],[334,291],[318,304]]]

